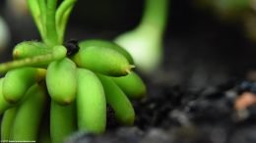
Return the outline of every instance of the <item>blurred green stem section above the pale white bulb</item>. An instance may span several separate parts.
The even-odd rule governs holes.
[[[167,20],[168,1],[145,0],[144,14],[138,28],[153,26],[157,27],[161,33]]]

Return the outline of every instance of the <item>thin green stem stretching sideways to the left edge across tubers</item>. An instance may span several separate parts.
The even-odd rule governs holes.
[[[55,46],[52,52],[45,55],[38,55],[31,58],[25,58],[13,62],[0,64],[0,72],[10,71],[21,67],[37,67],[48,64],[52,61],[62,59],[66,56],[67,50],[64,46]]]

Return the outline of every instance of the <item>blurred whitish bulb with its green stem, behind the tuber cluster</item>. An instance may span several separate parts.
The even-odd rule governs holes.
[[[140,24],[118,35],[114,41],[134,58],[138,70],[152,73],[162,61],[162,37],[167,21],[169,0],[145,0]]]

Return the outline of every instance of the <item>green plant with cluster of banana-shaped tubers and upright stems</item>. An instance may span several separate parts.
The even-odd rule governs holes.
[[[103,133],[106,107],[132,125],[131,99],[146,86],[131,55],[99,39],[64,42],[77,1],[28,0],[41,41],[23,41],[0,64],[1,140],[61,143],[74,131]]]

